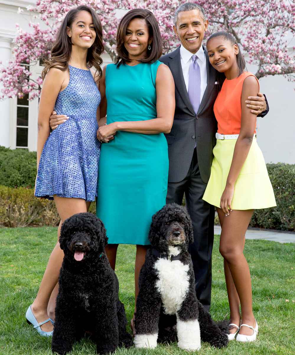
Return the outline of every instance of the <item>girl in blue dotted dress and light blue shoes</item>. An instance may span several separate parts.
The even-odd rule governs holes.
[[[102,25],[97,14],[87,6],[79,6],[67,13],[42,72],[35,196],[54,199],[61,219],[58,237],[64,220],[87,212],[97,196],[100,93],[96,82],[102,75],[103,50]],[[90,67],[96,69],[95,73]],[[50,134],[53,109],[58,114],[66,112],[68,119]],[[28,323],[43,336],[53,331],[63,256],[57,242],[37,297],[26,313]]]

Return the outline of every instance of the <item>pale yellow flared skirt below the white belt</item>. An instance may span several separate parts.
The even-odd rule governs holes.
[[[211,175],[203,200],[220,207],[220,198],[225,189],[226,180],[233,159],[236,139],[217,140],[213,149]],[[277,206],[266,164],[256,138],[235,183],[231,207],[240,209],[260,209]]]

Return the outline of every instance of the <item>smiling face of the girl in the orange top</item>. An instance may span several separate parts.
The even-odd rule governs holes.
[[[211,65],[220,73],[235,76],[235,71],[239,72],[236,60],[239,48],[236,44],[231,44],[223,37],[213,37],[207,42],[207,51]]]

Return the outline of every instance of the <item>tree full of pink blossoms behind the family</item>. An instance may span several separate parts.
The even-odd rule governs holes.
[[[199,0],[193,1],[204,7],[209,21],[207,36],[218,30],[234,35],[247,62],[256,64],[258,78],[267,75],[284,75],[295,80],[294,48],[290,41],[295,33],[295,4],[291,0]],[[105,51],[114,60],[116,28],[120,10],[136,7],[151,10],[156,16],[163,37],[164,53],[179,45],[172,26],[174,12],[183,2],[176,0],[37,0],[28,9],[33,12],[31,32],[17,27],[14,40],[14,58],[2,67],[0,98],[29,94],[34,99],[40,94],[42,79],[33,80],[27,66],[48,56],[56,31],[67,11],[88,5],[98,13],[103,25]],[[40,28],[39,21],[43,22]],[[44,26],[45,25],[45,26]]]

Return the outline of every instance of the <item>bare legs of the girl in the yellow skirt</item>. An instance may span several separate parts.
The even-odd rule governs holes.
[[[248,263],[243,254],[245,233],[250,223],[253,210],[232,211],[228,217],[222,218],[220,208],[218,215],[222,219],[219,251],[224,257],[226,286],[229,290],[230,311],[239,325],[239,300],[241,302],[242,323],[255,327],[255,318],[252,310],[252,288]],[[227,269],[228,268],[228,269]],[[229,271],[229,272],[228,272]],[[231,278],[230,278],[230,275]],[[233,283],[235,289],[233,288]],[[231,331],[233,332],[233,331]],[[236,332],[236,330],[235,330]],[[252,335],[252,329],[241,327],[240,334]]]

